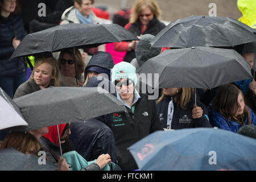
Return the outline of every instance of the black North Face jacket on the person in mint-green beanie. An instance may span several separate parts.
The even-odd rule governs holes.
[[[115,137],[117,164],[122,170],[138,169],[133,156],[127,150],[128,147],[154,131],[163,130],[154,100],[148,100],[146,94],[141,94],[141,98],[134,105],[134,114],[129,108],[129,115],[113,114],[111,127]]]

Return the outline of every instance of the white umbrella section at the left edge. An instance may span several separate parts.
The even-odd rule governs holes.
[[[0,130],[13,126],[28,125],[24,121],[19,107],[2,88],[0,88],[0,108]]]

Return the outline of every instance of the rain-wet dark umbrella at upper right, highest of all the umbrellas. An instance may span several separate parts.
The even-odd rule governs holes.
[[[189,16],[171,22],[152,40],[152,47],[232,47],[256,41],[253,28],[221,16]]]

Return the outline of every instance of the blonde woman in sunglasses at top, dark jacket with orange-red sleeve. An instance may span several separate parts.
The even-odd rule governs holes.
[[[156,35],[164,27],[160,22],[160,9],[154,0],[138,0],[131,10],[130,22],[125,28],[136,36],[144,34]],[[114,43],[115,51],[127,51],[123,61],[131,62],[135,58],[134,48],[137,40]]]

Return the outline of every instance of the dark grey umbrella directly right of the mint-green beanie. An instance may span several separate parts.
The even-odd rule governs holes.
[[[250,65],[238,52],[211,47],[167,49],[147,60],[137,72],[158,73],[154,88],[212,89],[252,78]]]

